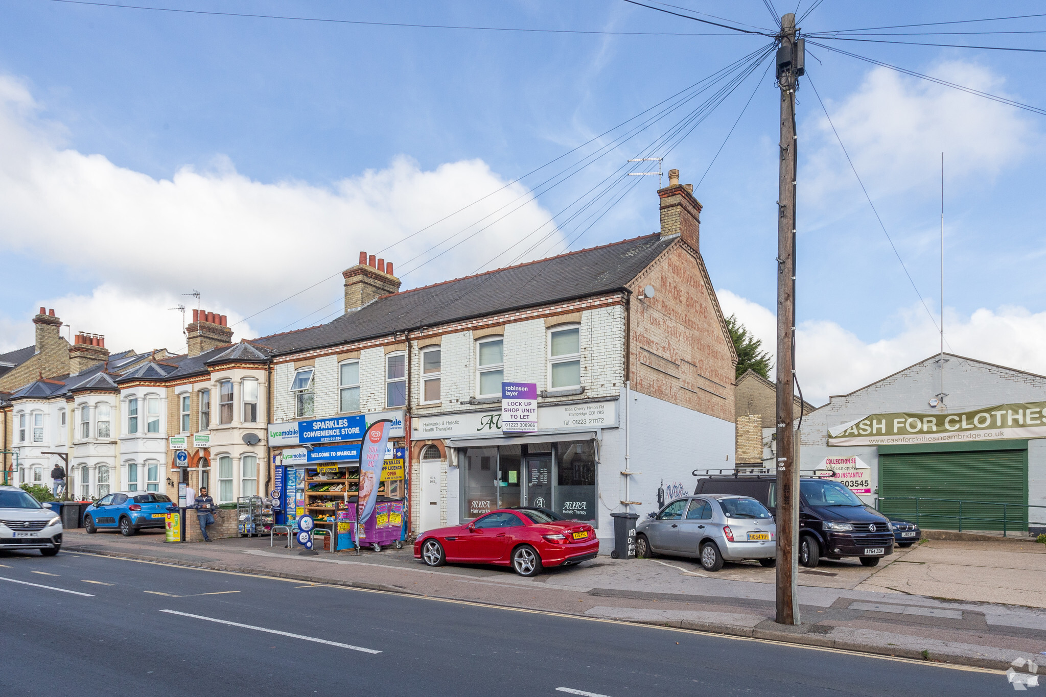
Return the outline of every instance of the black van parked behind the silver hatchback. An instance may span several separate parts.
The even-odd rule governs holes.
[[[751,496],[776,517],[776,490],[773,474],[741,474],[700,479],[693,493]],[[839,482],[799,480],[799,563],[803,566],[816,566],[821,557],[860,557],[865,566],[874,566],[893,554],[893,539],[889,519]]]

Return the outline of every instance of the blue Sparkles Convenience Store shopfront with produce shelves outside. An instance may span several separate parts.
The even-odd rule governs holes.
[[[378,487],[378,505],[364,529],[377,531],[382,544],[390,543],[393,537],[399,539],[393,529],[403,528],[408,516],[403,411],[270,423],[274,489],[269,493],[280,501],[278,525],[294,525],[308,513],[318,531],[333,536],[325,549],[334,551],[350,544],[360,493],[361,439],[367,426],[381,419],[392,422],[389,445],[382,474],[373,483]]]

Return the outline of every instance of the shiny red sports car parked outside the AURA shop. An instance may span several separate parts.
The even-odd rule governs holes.
[[[520,576],[594,559],[598,551],[591,525],[545,508],[491,511],[472,522],[426,531],[414,542],[414,558],[429,566],[448,561],[510,565]]]

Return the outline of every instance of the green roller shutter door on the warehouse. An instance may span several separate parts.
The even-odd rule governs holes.
[[[879,456],[880,509],[938,530],[1027,530],[1028,451],[972,450]],[[890,501],[917,496],[920,501]],[[948,498],[931,502],[926,498]],[[988,502],[987,506],[956,502]],[[961,514],[961,522],[959,515]],[[1004,524],[1005,518],[1005,524]]]

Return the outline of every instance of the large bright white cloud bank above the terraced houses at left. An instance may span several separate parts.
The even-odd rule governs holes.
[[[407,275],[404,287],[473,273],[549,218],[525,187],[498,191],[506,181],[480,160],[425,171],[399,157],[385,169],[317,186],[252,181],[218,156],[206,169],[186,165],[156,180],[65,147],[63,126],[40,112],[24,85],[0,75],[0,247],[65,265],[96,284],[90,295],[56,298],[61,291],[41,284],[36,305],[54,307],[75,330],[105,333],[107,346],[183,346],[181,318],[167,310],[177,302],[195,304],[183,293],[201,291],[203,307],[225,312],[231,323],[355,264],[360,251],[377,253],[492,192],[382,255],[403,277],[449,235],[460,233],[439,250],[493,224]],[[535,258],[562,239],[559,231],[541,228],[498,263],[549,232],[520,260]],[[340,277],[332,279],[281,306],[282,317],[274,312],[255,323],[278,331],[329,303],[309,317],[308,323],[319,322],[337,312],[340,286]],[[37,307],[4,309],[18,322],[0,338],[0,350],[31,344],[28,319]],[[273,324],[274,317],[280,321]],[[253,335],[244,325],[234,329],[236,336]]]

